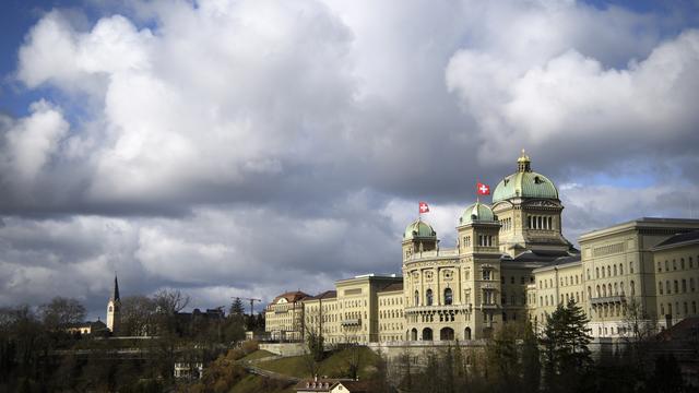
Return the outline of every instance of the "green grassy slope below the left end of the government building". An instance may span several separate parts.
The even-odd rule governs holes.
[[[360,356],[362,369],[359,370],[359,379],[369,379],[376,371],[376,365],[379,360],[371,349],[367,347],[358,347],[356,349],[344,349],[331,354],[320,364],[320,376],[330,378],[346,378],[352,352],[358,350]],[[258,364],[259,367],[297,378],[310,378],[307,360],[304,356],[293,356],[282,359],[274,359]]]

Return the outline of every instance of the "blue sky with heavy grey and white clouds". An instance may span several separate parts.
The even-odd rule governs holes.
[[[0,3],[0,306],[401,272],[525,148],[564,235],[699,218],[698,1]]]

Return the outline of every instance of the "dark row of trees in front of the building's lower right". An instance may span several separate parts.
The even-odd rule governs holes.
[[[406,350],[398,360],[398,385],[402,392],[420,393],[692,391],[683,384],[672,355],[639,359],[649,356],[639,349],[650,345],[647,342],[593,361],[588,322],[583,310],[571,301],[547,317],[538,336],[530,324],[510,323],[485,350],[466,349],[458,343],[419,356]]]

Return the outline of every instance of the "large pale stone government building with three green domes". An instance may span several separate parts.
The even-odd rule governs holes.
[[[699,219],[640,218],[584,234],[580,250],[561,231],[558,189],[522,153],[493,203],[458,217],[454,248],[440,248],[422,218],[405,228],[403,276],[367,274],[310,296],[277,296],[265,311],[276,340],[309,332],[327,343],[490,337],[574,300],[596,337],[628,334],[630,315],[664,329],[699,315]]]

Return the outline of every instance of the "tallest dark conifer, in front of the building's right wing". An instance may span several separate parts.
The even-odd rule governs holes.
[[[569,392],[571,386],[582,389],[581,382],[590,370],[592,358],[588,345],[590,322],[574,300],[566,307],[558,305],[546,317],[546,327],[541,338],[544,347],[544,382],[549,392]]]

